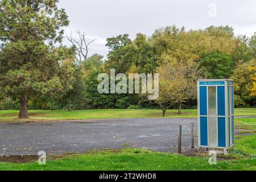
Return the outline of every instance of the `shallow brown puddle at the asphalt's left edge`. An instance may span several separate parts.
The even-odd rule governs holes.
[[[0,156],[0,162],[6,163],[30,163],[38,161],[38,155],[4,155]]]

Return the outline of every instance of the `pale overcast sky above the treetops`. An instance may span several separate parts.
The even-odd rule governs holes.
[[[66,32],[81,30],[97,39],[89,55],[108,54],[106,38],[137,33],[150,36],[156,28],[184,26],[186,30],[210,25],[232,26],[236,35],[256,32],[255,0],[59,0],[69,16]],[[64,42],[68,44],[68,42]]]

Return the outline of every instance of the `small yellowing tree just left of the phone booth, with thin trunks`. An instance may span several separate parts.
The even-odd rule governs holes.
[[[196,82],[202,78],[202,69],[198,63],[188,61],[160,65],[158,73],[160,91],[156,102],[160,104],[163,116],[171,104],[177,104],[178,114],[181,114],[181,104],[196,98]]]

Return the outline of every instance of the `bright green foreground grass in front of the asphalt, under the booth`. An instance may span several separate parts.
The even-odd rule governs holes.
[[[256,118],[239,118],[240,125],[256,128]],[[236,126],[237,127],[237,126]],[[218,156],[210,165],[207,156],[185,156],[138,148],[94,150],[84,154],[47,157],[47,164],[0,163],[0,170],[253,170],[256,171],[256,134],[236,136],[235,150]]]

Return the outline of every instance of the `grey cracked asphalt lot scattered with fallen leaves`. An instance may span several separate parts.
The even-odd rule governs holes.
[[[191,150],[191,123],[194,123],[197,135],[197,118],[0,123],[0,155],[37,155],[39,151],[63,154],[125,147],[176,152],[179,125],[183,126],[182,147],[185,152]]]

